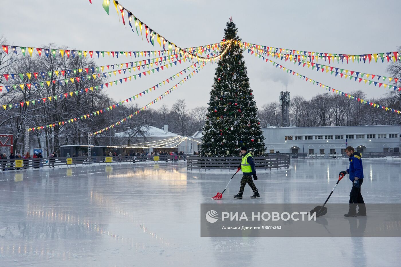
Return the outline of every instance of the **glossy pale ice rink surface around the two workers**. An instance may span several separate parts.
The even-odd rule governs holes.
[[[364,159],[366,203],[401,203],[399,160]],[[348,160],[292,160],[259,172],[260,198],[221,203],[323,203]],[[233,172],[232,172],[233,174]],[[200,203],[232,174],[184,163],[84,166],[0,174],[0,266],[399,266],[401,238],[200,237]],[[345,177],[331,203],[348,203]],[[346,211],[344,211],[346,213]]]

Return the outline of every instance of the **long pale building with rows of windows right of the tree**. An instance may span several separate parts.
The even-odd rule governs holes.
[[[348,146],[358,152],[399,152],[400,125],[262,128],[268,153],[344,154]]]

